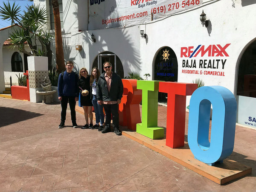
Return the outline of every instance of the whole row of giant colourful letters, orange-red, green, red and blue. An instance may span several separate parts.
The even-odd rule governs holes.
[[[222,162],[233,151],[236,130],[236,99],[225,87],[209,86],[197,89],[197,84],[137,81],[122,79],[124,94],[119,105],[120,124],[134,130],[140,122],[142,90],[142,121],[136,131],[151,139],[164,137],[164,129],[157,126],[158,90],[168,93],[166,145],[184,146],[186,96],[189,104],[188,143],[195,159],[214,165]],[[137,88],[136,88],[137,82]],[[212,105],[212,125],[209,122]]]

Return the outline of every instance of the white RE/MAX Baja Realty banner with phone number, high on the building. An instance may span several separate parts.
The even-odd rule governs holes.
[[[202,4],[203,0],[90,0],[89,30],[147,23]]]

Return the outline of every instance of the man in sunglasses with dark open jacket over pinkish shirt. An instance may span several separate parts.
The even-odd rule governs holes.
[[[112,114],[114,133],[121,135],[122,133],[119,131],[118,105],[121,103],[123,94],[122,79],[119,75],[112,72],[112,64],[110,62],[105,62],[103,68],[105,73],[99,76],[97,83],[98,103],[99,105],[103,105],[106,114],[105,128],[102,130],[102,133],[111,131]]]

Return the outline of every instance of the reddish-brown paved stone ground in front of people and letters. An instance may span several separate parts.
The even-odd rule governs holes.
[[[256,191],[256,131],[237,126],[231,159],[252,174],[220,186],[125,137],[81,127],[61,106],[0,98],[1,191]],[[166,107],[159,106],[166,127]],[[121,128],[122,130],[122,128]]]

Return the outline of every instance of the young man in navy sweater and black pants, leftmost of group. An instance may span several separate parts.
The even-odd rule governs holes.
[[[70,105],[71,120],[73,128],[77,128],[76,124],[76,102],[79,99],[78,75],[73,72],[74,64],[67,61],[66,71],[58,77],[58,99],[61,101],[61,123],[58,128],[63,128],[66,120],[67,102]]]

